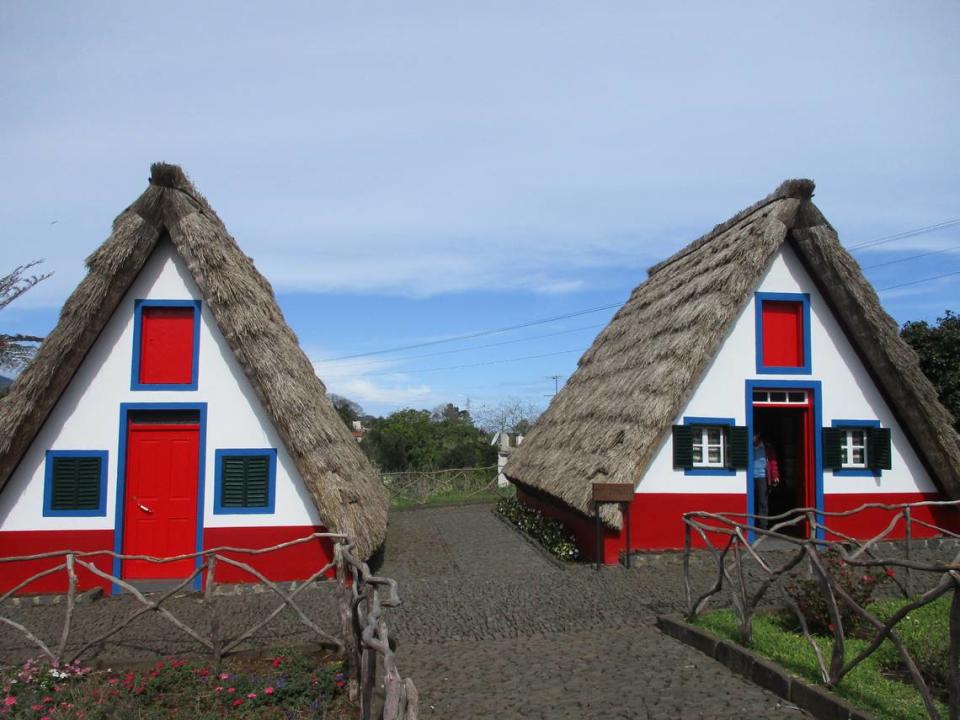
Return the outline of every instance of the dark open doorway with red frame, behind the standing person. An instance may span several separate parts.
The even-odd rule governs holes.
[[[769,515],[816,503],[811,410],[810,393],[804,390],[753,392],[753,432],[766,445],[768,457],[776,459],[779,475],[779,484],[768,485]],[[756,496],[753,511],[759,514]],[[806,523],[790,532],[805,535]]]

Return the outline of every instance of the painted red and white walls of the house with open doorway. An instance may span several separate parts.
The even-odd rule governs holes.
[[[758,312],[762,302],[773,304],[766,310],[761,306]],[[790,317],[793,310],[799,313],[796,322]],[[769,367],[780,363],[791,367],[780,372]],[[706,464],[706,454],[711,452],[711,438],[702,437],[700,428],[740,426],[746,428],[749,438],[762,430],[761,425],[772,427],[774,423],[789,426],[793,433],[789,459],[794,464],[793,487],[775,491],[781,510],[806,506],[833,512],[865,503],[943,499],[830,307],[787,245],[674,420],[674,425],[697,428],[700,464]],[[889,429],[889,468],[825,468],[823,428],[831,427]],[[781,427],[780,432],[786,430]],[[678,467],[675,437],[666,433],[637,483],[630,508],[634,549],[683,547],[681,516],[685,512],[753,513],[756,509],[752,455],[745,468],[736,470]],[[862,437],[855,433],[847,442],[862,445]],[[861,447],[848,445],[846,452],[850,465],[864,459]],[[719,457],[715,460],[724,464]],[[781,467],[786,460],[780,458]],[[519,492],[528,504],[561,519],[577,536],[585,554],[593,556],[596,545],[589,518],[546,498]],[[771,503],[772,514],[778,504]],[[869,537],[882,531],[890,517],[884,511],[868,511],[849,518],[828,518],[827,525],[852,536]],[[954,523],[952,518],[934,518],[926,510],[918,511],[916,517]],[[899,533],[902,536],[902,528]],[[914,533],[922,535],[924,530],[915,528]],[[617,561],[625,539],[625,530],[605,531],[604,561]]]

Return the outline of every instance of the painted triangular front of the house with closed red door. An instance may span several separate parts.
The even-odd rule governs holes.
[[[52,509],[52,458],[90,453],[103,461],[99,507]],[[265,459],[269,486],[259,506],[228,507],[221,497],[230,453]],[[170,556],[222,545],[267,547],[323,530],[323,518],[189,270],[162,242],[0,493],[0,555],[70,549]],[[329,546],[316,542],[240,559],[268,578],[291,580],[329,557]],[[193,563],[121,563],[108,556],[96,562],[131,580],[186,577]],[[51,564],[0,566],[0,591],[44,563]],[[217,581],[252,579],[244,575],[221,566]],[[81,586],[110,589],[90,573],[80,580]],[[65,582],[58,573],[24,592],[59,591]]]

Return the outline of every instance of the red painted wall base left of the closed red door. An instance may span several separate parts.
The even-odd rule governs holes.
[[[19,555],[39,555],[40,553],[73,550],[76,552],[95,552],[113,550],[112,530],[69,531],[17,531],[0,532],[0,557]],[[113,558],[109,555],[94,555],[84,558],[86,562],[103,570],[112,572]],[[17,560],[0,563],[0,592],[12,590],[27,578],[43,570],[65,562],[62,555],[42,560]],[[110,592],[110,583],[99,578],[89,570],[77,569],[77,585],[81,590],[102,587]],[[38,593],[63,593],[67,591],[67,571],[58,570],[35,580],[21,588],[18,594],[35,595]]]

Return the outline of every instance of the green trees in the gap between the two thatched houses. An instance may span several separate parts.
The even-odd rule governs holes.
[[[454,405],[439,411],[399,410],[371,420],[361,443],[383,472],[480,467],[497,461],[496,448]]]

